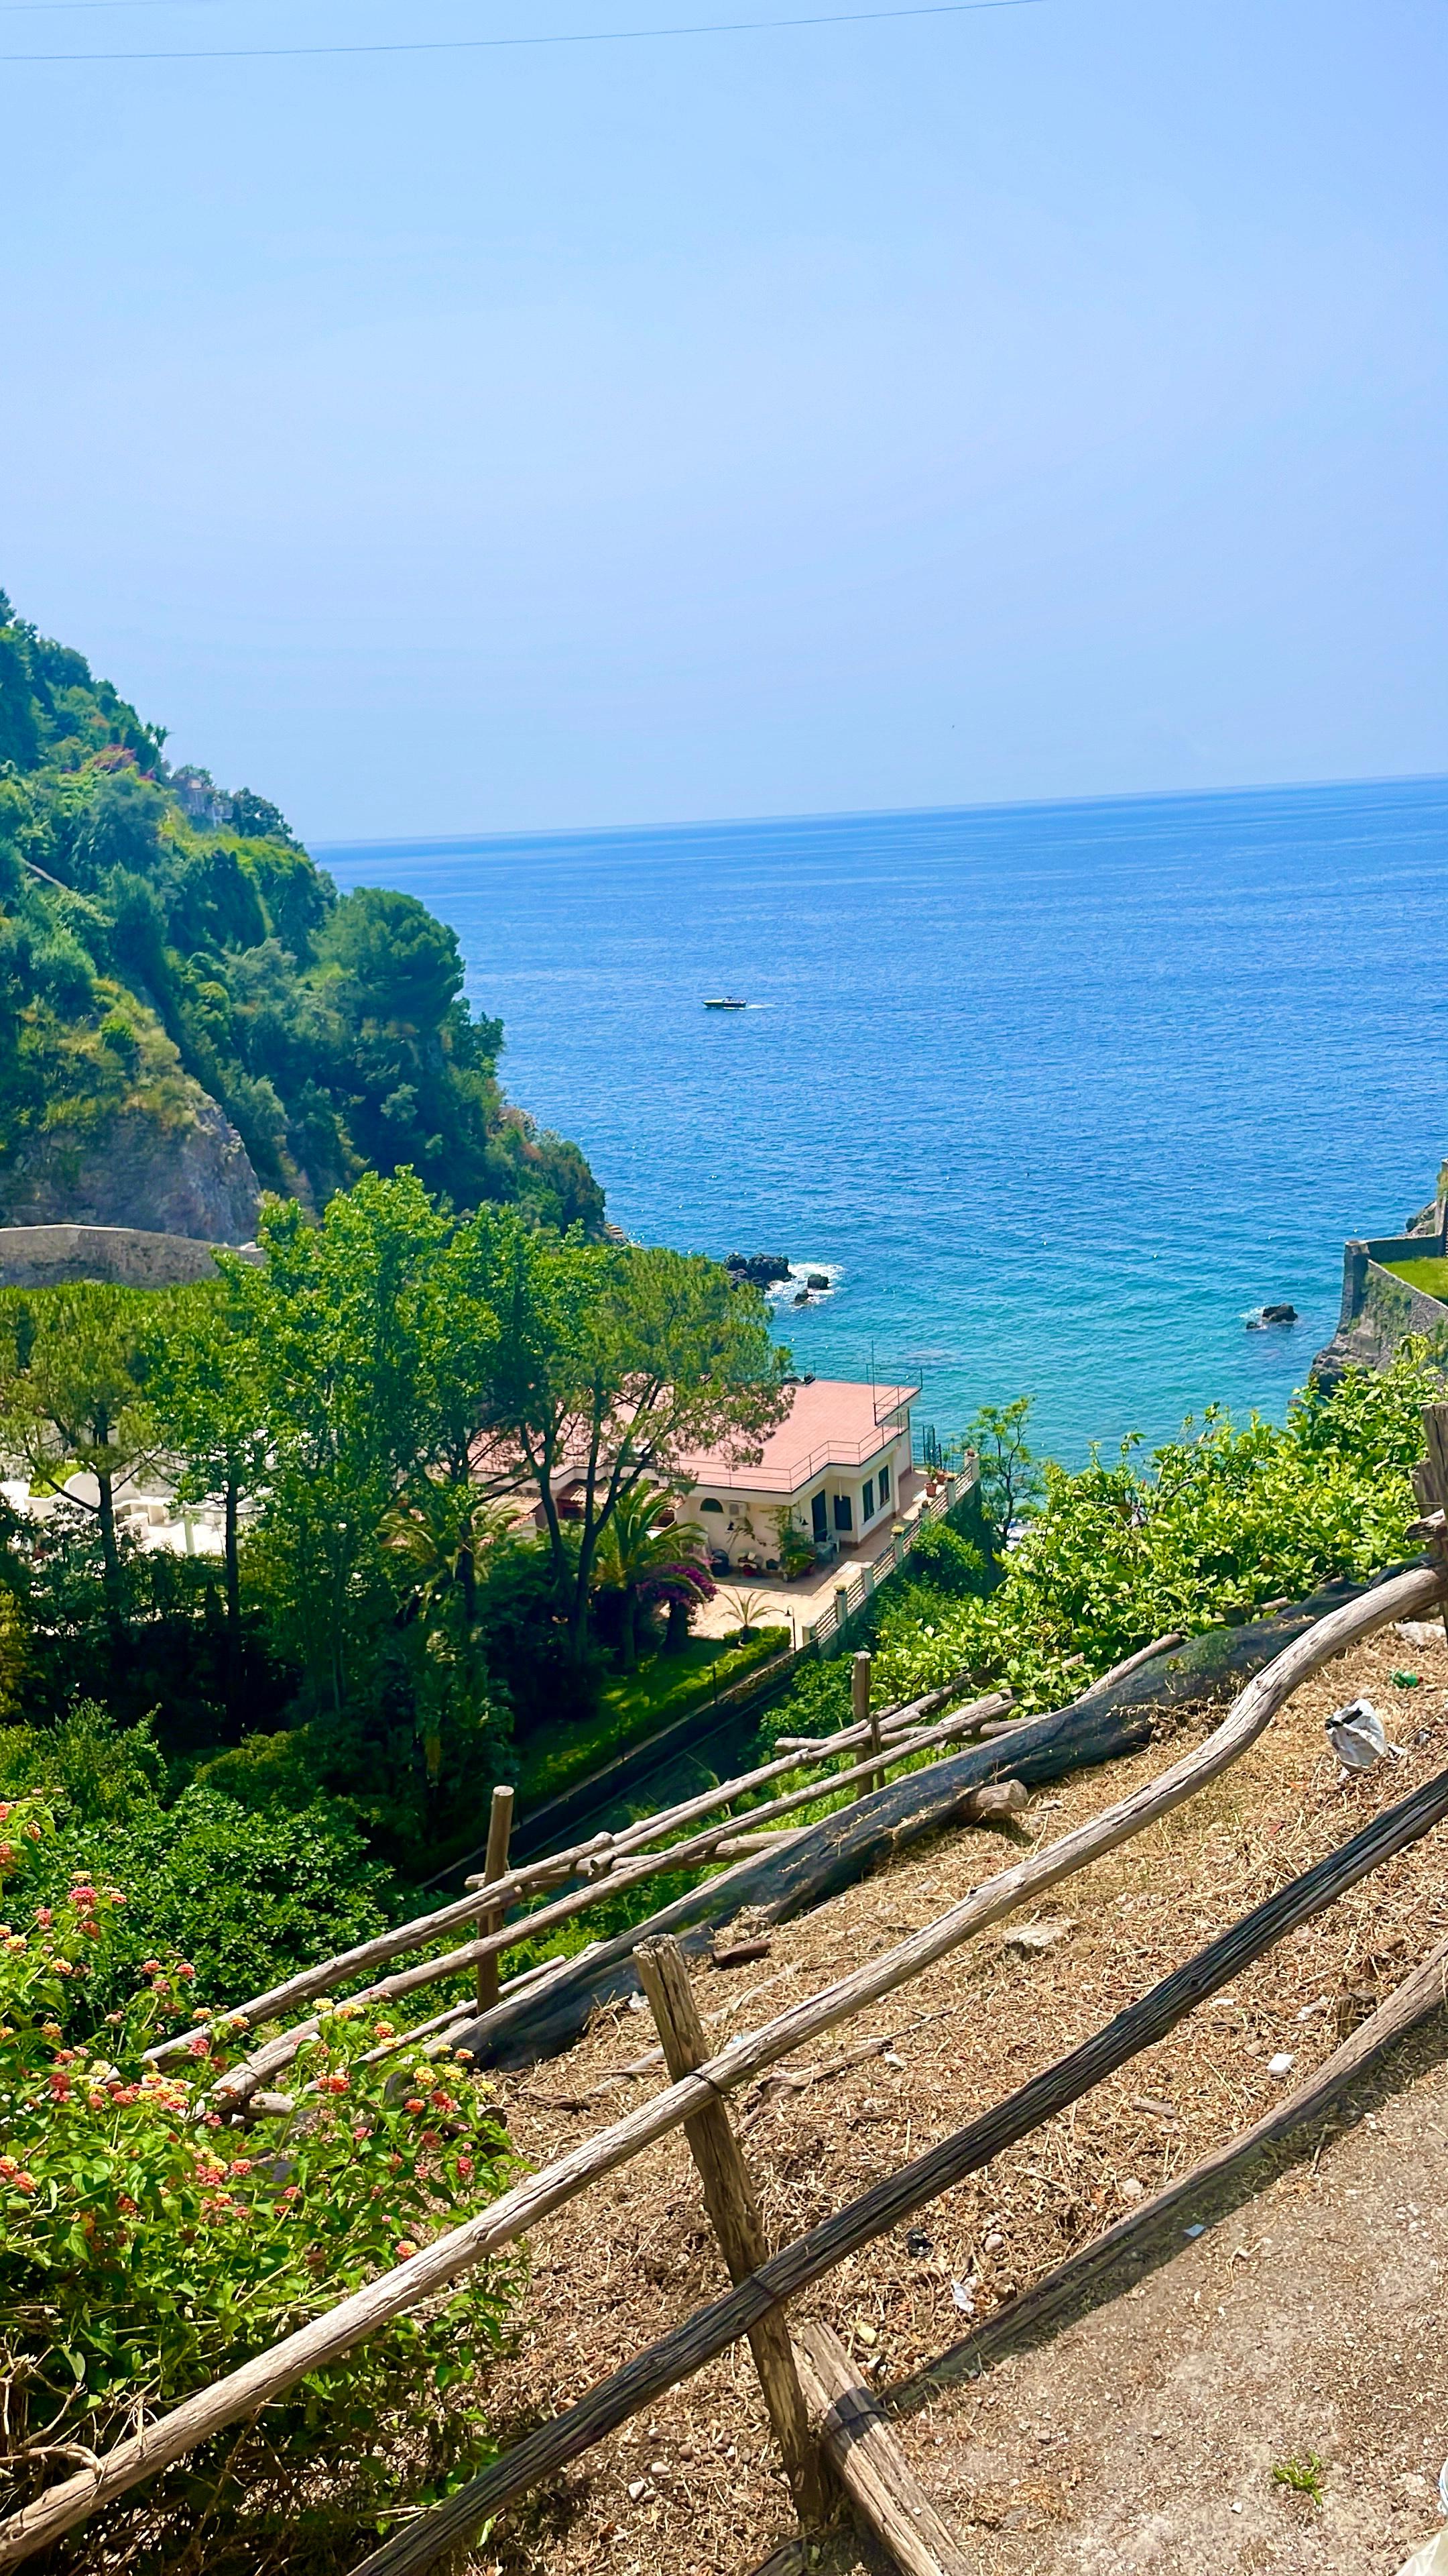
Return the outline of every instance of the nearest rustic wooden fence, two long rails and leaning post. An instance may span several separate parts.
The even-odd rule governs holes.
[[[211,2439],[227,2424],[245,2421],[258,2409],[268,2406],[283,2391],[294,2388],[307,2372],[335,2362],[397,2316],[438,2298],[438,2293],[446,2293],[448,2285],[456,2282],[472,2264],[479,2264],[515,2244],[551,2210],[575,2200],[580,2192],[587,2192],[593,2182],[616,2172],[670,2130],[685,2128],[691,2148],[703,2169],[709,2151],[701,2141],[706,2133],[714,2141],[714,2156],[727,2156],[719,2130],[719,2123],[724,2123],[724,2133],[729,2136],[729,2146],[737,2156],[737,2141],[732,2141],[724,2107],[732,2092],[760,2076],[781,2058],[794,2056],[794,2050],[817,2040],[822,2032],[840,2027],[868,2004],[894,1994],[987,1924],[1000,1922],[1025,1901],[1038,1899],[1046,1888],[1059,1886],[1103,1852],[1116,1850],[1167,1811],[1198,1795],[1232,1762],[1237,1762],[1250,1744],[1257,1741],[1262,1728],[1311,1672],[1391,1620],[1415,1618],[1440,1605],[1443,1592],[1445,1569],[1443,1564],[1430,1564],[1394,1577],[1373,1592],[1335,1610],[1329,1618],[1317,1620],[1317,1625],[1293,1638],[1293,1643],[1286,1646],[1273,1664],[1247,1682],[1214,1734],[1170,1765],[1159,1777],[1144,1783],[1116,1806],[1108,1806],[1100,1816],[1074,1826],[1059,1842],[1033,1850],[1013,1868],[989,1878],[984,1886],[971,1888],[958,1904],[935,1917],[935,1922],[925,1924],[920,1932],[912,1932],[894,1950],[871,1958],[866,1965],[855,1968],[824,1991],[791,2004],[757,2030],[737,2035],[714,2058],[701,2058],[698,2043],[691,2038],[688,2027],[683,2027],[678,2009],[670,2007],[667,1999],[660,2002],[660,2040],[670,2061],[670,2081],[649,2102],[639,2105],[624,2120],[598,2130],[593,2138],[585,2138],[541,2172],[528,2174],[523,2182],[502,2192],[502,2197],[490,2208],[466,2218],[461,2226],[448,2228],[420,2254],[410,2257],[410,2262],[368,2282],[363,2290],[340,2298],[325,2316],[312,2318],[307,2326],[283,2336],[268,2352],[245,2362],[211,2388],[198,2391],[180,2406],[173,2406],[165,2416],[144,2424],[137,2434],[119,2442],[106,2458],[52,2486],[33,2504],[0,2524],[0,2568],[18,2566],[33,2550],[46,2548],[62,2532],[126,2494],[142,2478],[149,2478],[160,2468],[186,2458],[196,2445]],[[873,1759],[858,1765],[858,1770],[873,1770],[881,1752],[886,1759],[899,1759],[912,1734],[917,1739],[925,1734],[940,1734],[940,1728],[915,1726],[920,1710],[899,1716],[910,1718],[904,1734],[891,1736],[884,1728],[884,1721],[873,1718],[866,1721],[863,1736],[858,1728],[845,1728],[835,1736],[835,1752],[850,1749],[850,1736],[855,1736],[855,1741],[871,1741],[871,1728],[879,1728],[881,1744],[876,1747],[871,1741]],[[979,1713],[974,1723],[984,1723]],[[799,1757],[786,1754],[783,1759],[791,1762]],[[812,1793],[817,1795],[819,1790],[814,1788]],[[675,1816],[678,1814],[680,1811],[675,1811]],[[1000,2154],[1010,2141],[1028,2136],[1064,2105],[1080,2099],[1082,2092],[1098,2084],[1110,2069],[1121,2066],[1139,2048],[1154,2045],[1154,2040],[1196,2009],[1203,1996],[1237,1976],[1250,1958],[1257,1958],[1270,1942],[1281,1940],[1299,1922],[1306,1922],[1309,1914],[1322,1911],[1322,1906],[1332,1904],[1342,1888],[1363,1878],[1366,1870],[1378,1868],[1391,1852],[1404,1850],[1407,1842],[1425,1834],[1445,1814],[1448,1775],[1440,1775],[1404,1798],[1396,1808],[1373,1819],[1373,1824],[1353,1837],[1353,1842],[1332,1852],[1304,1878],[1281,1888],[1265,1906],[1257,1906],[1255,1914],[1234,1924],[1219,1942],[1203,1950],[1185,1968],[1175,1971],[1175,1976],[1165,1978],[1162,1986],[1152,1989],[1149,1996],[1118,2014],[1082,2048],[1072,2050],[1056,2066],[1046,2069],[1046,2074],[1036,2076],[1028,2087],[1023,2087],[1023,2092],[995,2105],[995,2110],[989,2110],[982,2120],[930,2148],[928,2156],[902,2166],[873,2192],[866,2192],[863,2200],[840,2210],[832,2221],[814,2228],[794,2246],[768,2254],[765,2259],[750,2259],[750,2269],[737,2277],[727,2298],[701,2308],[680,2329],[654,2344],[652,2352],[639,2354],[621,2372],[613,2372],[580,2406],[569,2409],[554,2424],[538,2427],[536,2434],[484,2470],[482,2478],[474,2478],[472,2486],[448,2499],[448,2504],[438,2506],[433,2514],[417,2517],[407,2532],[389,2540],[384,2550],[366,2561],[368,2576],[402,2576],[402,2571],[430,2566],[446,2548],[453,2548],[459,2537],[474,2530],[487,2514],[497,2512],[510,2496],[523,2494],[557,2465],[577,2458],[598,2442],[608,2429],[654,2403],[662,2388],[675,2385],[739,2336],[747,2334],[755,2339],[763,2329],[768,2329],[768,2321],[778,2316],[781,2303],[796,2295],[806,2282],[824,2277],[850,2251],[871,2244],[879,2233],[897,2226],[904,2215],[922,2208],[964,2174],[974,2172],[992,2154]],[[647,1829],[657,1834],[660,1819],[647,1819]],[[577,1855],[569,1857],[569,1868],[575,1857]],[[474,1896],[472,1904],[497,1906],[502,1891],[515,1893],[523,1878],[526,1873],[497,1878],[487,1886],[487,1893]],[[613,1886],[616,1883],[618,1878],[613,1878]],[[448,1911],[456,1909],[441,1909],[441,1914]],[[538,1922],[538,1917],[533,1917],[533,1922]],[[350,1953],[350,1958],[356,1965],[358,1953]],[[335,1968],[335,1960],[327,1963],[327,1971]],[[667,1968],[662,1976],[652,1978],[652,1986],[657,1996],[667,1994]],[[309,1991],[322,1989],[312,1986]],[[678,1996],[678,1981],[672,1991]],[[278,1989],[278,1994],[286,1996],[286,2002],[294,2002],[296,1981],[291,1981],[289,1989]],[[276,1994],[271,1999],[258,1999],[258,2009],[260,2002],[276,2004]],[[260,2056],[265,2056],[265,2050],[260,2050]],[[675,2066],[683,2066],[683,2071],[675,2074]],[[734,2166],[734,2190],[737,2187],[739,2169]],[[714,2190],[711,2208],[716,2208],[716,2202],[719,2192]],[[737,2210],[734,2218],[739,2218]],[[747,2239],[747,2228],[739,2223],[729,2236],[732,2223],[719,2218],[716,2223],[727,2259],[729,2244],[734,2246],[734,2262],[729,2262],[729,2269],[737,2272],[739,2246]],[[760,2354],[757,2342],[755,2354]],[[786,2424],[791,2398],[781,2396],[778,2385],[778,2334],[773,2336],[773,2393],[768,2367],[760,2365],[765,2398],[770,2401],[770,2411],[781,2429],[786,2460],[791,2458],[788,2445],[794,2445],[791,2465],[796,2470],[796,2496],[801,2509],[809,2509],[806,2481],[799,2476],[801,2463],[796,2434],[791,2434]],[[801,2372],[799,2354],[788,2362],[788,2367],[794,2367],[799,2383],[804,2385],[806,2372]],[[814,2385],[819,2385],[819,2370],[814,2370]],[[832,2455],[840,2452],[837,2434],[840,2427],[835,2421],[835,2432],[830,2437],[835,2445]],[[889,2501],[884,2506],[879,2504],[879,2496],[886,2488],[889,2481],[879,2478],[873,2488],[868,2488],[884,2514],[876,2527],[889,2545],[899,2543],[899,2553],[904,2553],[904,2537],[899,2530],[894,2535],[889,2530]],[[863,2501],[863,2488],[850,2486],[850,2494],[855,2501]],[[915,2555],[915,2561],[907,2558],[904,2563],[912,2563],[915,2568],[933,2566],[935,2571],[948,2566],[943,2555],[935,2555],[933,2561]]]

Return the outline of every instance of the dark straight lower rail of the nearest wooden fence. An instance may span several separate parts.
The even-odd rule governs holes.
[[[1286,1940],[1288,1932],[1296,1932],[1314,1914],[1322,1914],[1350,1886],[1381,1868],[1384,1860],[1391,1860],[1409,1842],[1417,1842],[1440,1824],[1443,1816],[1448,1816],[1448,1772],[1425,1780],[1422,1788],[1381,1816],[1373,1816],[1360,1834],[1353,1834],[1340,1850],[1327,1852],[1301,1878],[1291,1878],[1286,1888],[1268,1896],[1252,1914],[1244,1914],[1242,1922],[1221,1932],[1206,1950],[1198,1950],[1183,1968],[1175,1968],[1172,1976],[1152,1986],[1141,2002],[1129,2004],[1113,2022],[1082,2040],[1080,2048],[1072,2048],[1069,2056],[1043,2069],[1031,2084],[1023,2084],[1020,2092],[997,2102],[979,2120],[971,2120],[969,2128],[943,2138],[897,2174],[889,2174],[886,2182],[876,2182],[861,2200],[853,2200],[835,2218],[822,2221],[822,2226],[799,2236],[781,2254],[773,2254],[750,2280],[729,2290],[727,2298],[698,2308],[672,2334],[665,2334],[634,2362],[600,2380],[567,2414],[515,2442],[513,2450],[502,2452],[477,2478],[469,2478],[446,2504],[420,2514],[405,2532],[386,2540],[381,2550],[363,2558],[356,2576],[420,2576],[443,2550],[456,2548],[474,2532],[479,2522],[502,2512],[513,2496],[538,2486],[541,2478],[554,2476],[569,2460],[577,2460],[580,2452],[593,2450],[595,2442],[616,2432],[618,2424],[626,2424],[629,2416],[644,2406],[654,2406],[667,2388],[678,2388],[680,2380],[703,2370],[706,2362],[727,2352],[778,2300],[796,2298],[845,2262],[848,2254],[858,2254],[876,2236],[902,2226],[904,2218],[928,2208],[940,2192],[953,2190],[966,2174],[976,2174],[992,2156],[1028,2138],[1043,2120],[1054,2120],[1062,2110],[1069,2110],[1072,2102],[1080,2102],[1082,2094],[1116,2074],[1118,2066],[1126,2066],[1129,2058],[1144,2048],[1154,2048],[1208,1994],[1242,1976],[1265,1950],[1275,1947],[1275,1942]],[[3,2532],[5,2527],[0,2527],[0,2566],[5,2566]]]

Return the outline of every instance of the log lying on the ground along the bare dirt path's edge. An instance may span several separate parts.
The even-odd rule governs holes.
[[[1402,1981],[1402,1986],[1389,1994],[1386,2004],[1358,2025],[1358,2030],[1332,2050],[1329,2058],[1317,2066],[1304,2084],[1296,2084],[1291,2094],[1283,2094],[1273,2110],[1244,2128],[1226,2146],[1203,2156],[1190,2172],[1177,2174],[1165,2192],[1154,2192],[1152,2200],[1141,2200],[1139,2208],[1118,2218],[1116,2226],[1105,2228],[1090,2246],[1080,2254],[1067,2254],[1054,2272],[1046,2272],[1031,2290],[1013,2298],[1010,2306],[995,2308],[984,2316],[979,2326],[971,2326],[958,2344],[940,2352],[933,2362],[925,2362],[910,2380],[897,2380],[886,2393],[884,2403],[889,2414],[912,2414],[925,2406],[940,2388],[951,2388],[956,2380],[974,2380],[989,2367],[1002,2352],[1015,2352],[1020,2344],[1033,2342],[1046,2329],[1067,2316],[1077,2316],[1095,2298],[1108,2298],[1121,2282],[1121,2267],[1147,2249],[1152,2239],[1162,2241],[1162,2231],[1180,2210],[1206,2208],[1211,2195],[1232,2182],[1237,2174],[1252,2164],[1262,2148],[1275,2146],[1301,2130],[1311,2130],[1329,2110],[1342,2102],[1342,2097],[1358,2084],[1363,2074],[1378,2066],[1394,2048],[1430,2022],[1435,2014],[1448,2009],[1448,1940],[1422,1960]],[[1175,2246],[1170,2249],[1175,2251]],[[1144,2254],[1139,2259],[1147,2259]],[[1136,2267],[1131,2272],[1136,2280]]]

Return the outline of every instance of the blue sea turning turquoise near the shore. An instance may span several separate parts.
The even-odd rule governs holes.
[[[1281,1417],[1342,1236],[1430,1195],[1445,842],[1399,781],[317,855],[453,922],[629,1234],[827,1270],[801,1368],[920,1378],[940,1435],[1031,1391],[1080,1461]]]

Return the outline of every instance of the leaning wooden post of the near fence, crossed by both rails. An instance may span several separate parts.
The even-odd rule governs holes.
[[[693,2002],[683,1953],[675,1940],[649,1940],[634,1953],[634,1965],[649,1996],[670,2084],[678,2084],[709,2058],[709,2040],[698,2004]],[[711,2102],[709,2110],[696,2112],[693,2120],[683,2123],[683,2133],[698,2166],[703,2200],[729,2267],[729,2280],[742,2282],[768,2259],[768,2241],[750,2169],[724,2102]],[[824,2476],[814,2434],[809,2432],[804,2391],[781,2308],[770,2308],[768,2316],[760,2316],[757,2326],[750,2326],[750,2352],[755,2354],[755,2370],[776,2442],[783,2452],[783,2470],[799,2519],[806,2524],[822,2522],[827,2512]]]

